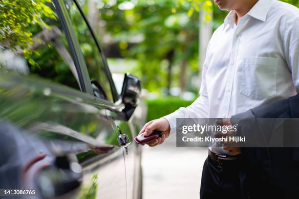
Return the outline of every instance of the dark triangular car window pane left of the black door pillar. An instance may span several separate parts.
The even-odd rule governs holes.
[[[34,44],[27,60],[30,74],[80,90],[78,74],[71,57],[62,24],[56,15],[53,5],[50,8],[54,16],[43,19],[47,27],[31,25]],[[21,52],[22,53],[22,52]]]

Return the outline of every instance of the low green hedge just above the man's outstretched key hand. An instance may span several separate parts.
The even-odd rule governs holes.
[[[177,97],[163,97],[155,100],[147,100],[148,117],[147,122],[166,116],[180,107],[189,106],[192,101],[185,101]]]

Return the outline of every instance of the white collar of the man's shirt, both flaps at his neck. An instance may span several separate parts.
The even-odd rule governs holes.
[[[267,14],[275,0],[258,0],[251,10],[246,14],[257,20],[266,21]],[[245,16],[246,16],[245,15]],[[224,20],[223,29],[227,25],[235,24],[236,13],[234,10],[230,11]]]

